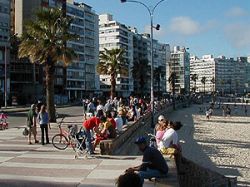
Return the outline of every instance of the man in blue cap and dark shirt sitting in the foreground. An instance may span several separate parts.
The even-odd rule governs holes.
[[[143,152],[142,164],[128,168],[126,172],[138,173],[142,183],[144,179],[165,177],[168,173],[168,165],[160,151],[149,147],[143,136],[138,137],[134,143]]]

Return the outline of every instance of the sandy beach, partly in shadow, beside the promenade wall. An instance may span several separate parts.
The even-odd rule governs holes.
[[[208,120],[205,111],[193,105],[167,116],[181,121],[178,131],[186,158],[226,176],[237,176],[239,186],[250,186],[250,106],[231,104],[232,115],[224,117],[222,109],[214,109]]]

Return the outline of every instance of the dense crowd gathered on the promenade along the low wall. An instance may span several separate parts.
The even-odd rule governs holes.
[[[167,99],[155,101],[155,111],[170,102]],[[144,113],[151,111],[150,102],[134,96],[128,100],[117,97],[104,101],[98,98],[84,99],[82,104],[83,133],[87,137],[86,148],[89,154],[94,154],[101,140],[115,138],[128,122],[137,121]]]

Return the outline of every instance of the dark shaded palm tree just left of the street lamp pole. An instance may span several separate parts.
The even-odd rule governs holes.
[[[140,87],[138,87],[137,89],[139,90],[138,93],[141,96],[144,95],[145,84],[147,83],[149,79],[149,76],[148,76],[149,72],[150,72],[150,66],[148,65],[147,59],[134,62],[134,65],[132,67],[132,76],[134,80],[137,81],[140,85]]]

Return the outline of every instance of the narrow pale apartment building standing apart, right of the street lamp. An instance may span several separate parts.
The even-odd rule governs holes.
[[[175,93],[189,93],[190,88],[190,54],[185,47],[175,46],[167,65],[167,79],[172,72],[176,74]],[[167,81],[167,91],[172,92]]]

